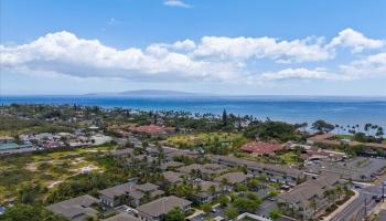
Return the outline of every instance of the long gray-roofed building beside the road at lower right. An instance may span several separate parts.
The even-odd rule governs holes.
[[[342,186],[340,175],[324,172],[317,179],[309,179],[294,187],[289,192],[279,196],[279,202],[283,211],[291,211],[289,214],[297,219],[308,220],[315,212],[322,211],[333,203],[328,199],[326,191]]]

